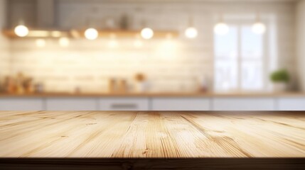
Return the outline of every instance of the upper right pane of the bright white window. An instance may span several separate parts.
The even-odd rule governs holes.
[[[253,33],[251,26],[242,26],[242,58],[261,58],[263,55],[263,35]]]

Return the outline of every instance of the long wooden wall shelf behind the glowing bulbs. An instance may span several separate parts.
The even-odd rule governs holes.
[[[4,35],[9,38],[19,38],[14,30],[3,30]],[[100,38],[136,38],[141,30],[98,30]],[[24,38],[85,38],[85,30],[30,30]],[[176,38],[178,31],[173,30],[154,30],[154,38]]]

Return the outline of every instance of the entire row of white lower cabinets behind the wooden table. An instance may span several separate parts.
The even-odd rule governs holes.
[[[305,111],[305,97],[18,97],[0,111]]]

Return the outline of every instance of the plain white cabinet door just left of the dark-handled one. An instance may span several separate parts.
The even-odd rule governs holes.
[[[47,111],[96,111],[95,98],[47,98]]]

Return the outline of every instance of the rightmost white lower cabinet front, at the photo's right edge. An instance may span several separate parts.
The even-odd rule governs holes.
[[[278,98],[277,107],[279,111],[305,111],[305,98]]]

